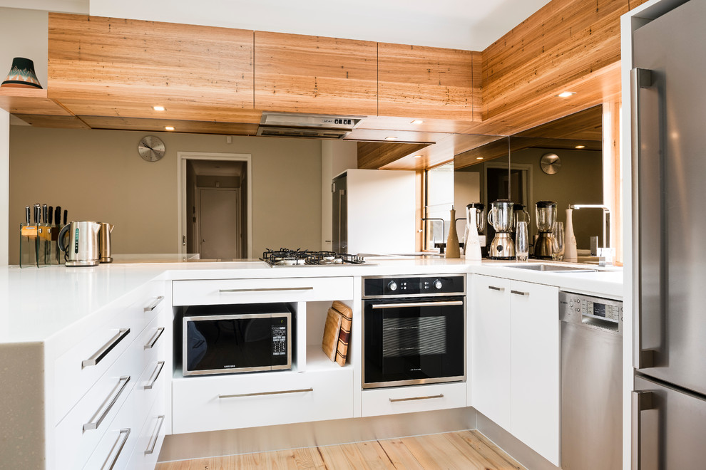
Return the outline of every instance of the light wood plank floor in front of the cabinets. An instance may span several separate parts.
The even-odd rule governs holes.
[[[240,454],[158,464],[155,470],[459,469],[517,470],[523,466],[476,431]]]

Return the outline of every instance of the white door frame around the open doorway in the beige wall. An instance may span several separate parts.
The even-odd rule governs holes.
[[[223,160],[227,162],[246,163],[247,184],[247,258],[252,258],[252,155],[249,153],[219,153],[219,152],[177,152],[177,246],[179,254],[185,254],[184,243],[186,233],[186,161],[187,160]]]

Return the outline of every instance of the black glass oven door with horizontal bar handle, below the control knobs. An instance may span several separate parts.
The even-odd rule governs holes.
[[[364,303],[363,387],[464,380],[463,297]]]

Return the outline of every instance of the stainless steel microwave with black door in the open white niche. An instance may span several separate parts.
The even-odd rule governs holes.
[[[183,375],[292,368],[285,303],[192,305],[183,318]]]

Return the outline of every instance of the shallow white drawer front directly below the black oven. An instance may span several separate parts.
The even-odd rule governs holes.
[[[362,415],[412,413],[466,407],[466,382],[363,390]]]

